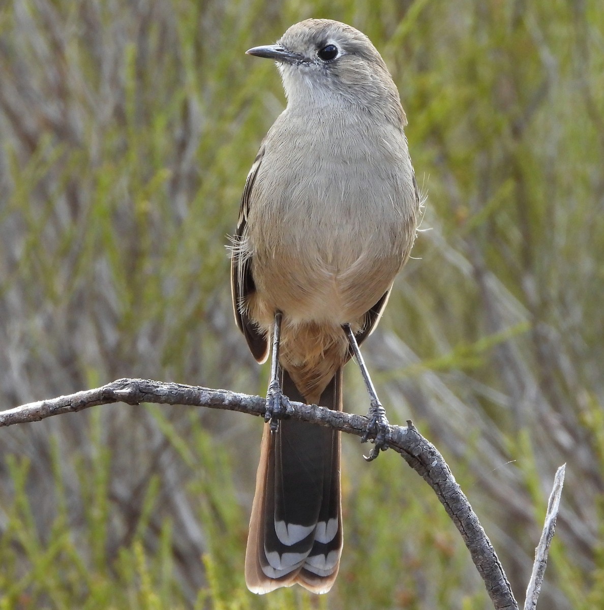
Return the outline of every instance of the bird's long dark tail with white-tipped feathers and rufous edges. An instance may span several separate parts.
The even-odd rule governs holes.
[[[283,393],[306,402],[284,371]],[[319,404],[342,409],[342,369]],[[340,433],[295,420],[264,426],[256,493],[245,553],[245,581],[254,593],[299,583],[326,593],[340,566]]]

